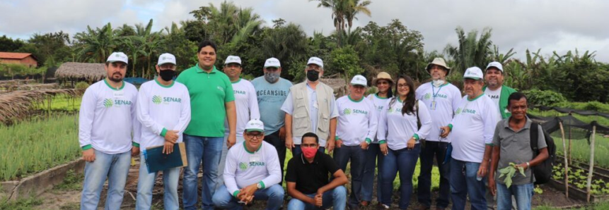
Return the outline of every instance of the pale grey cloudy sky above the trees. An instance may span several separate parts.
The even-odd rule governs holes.
[[[192,19],[189,14],[209,3],[219,6],[222,0],[1,0],[0,35],[28,39],[35,32],[63,30],[74,35],[87,25],[114,27],[127,23],[155,21],[160,30],[172,22]],[[465,31],[492,27],[492,41],[501,52],[514,48],[517,57],[526,49],[542,49],[543,54],[559,54],[573,49],[596,51],[598,61],[609,62],[609,1],[406,1],[371,0],[372,16],[359,15],[354,27],[369,21],[386,25],[399,19],[411,30],[424,36],[427,51],[442,51],[456,43],[455,28]],[[237,5],[252,7],[265,19],[283,18],[298,23],[308,35],[313,31],[330,34],[331,11],[317,8],[308,0],[234,0]]]

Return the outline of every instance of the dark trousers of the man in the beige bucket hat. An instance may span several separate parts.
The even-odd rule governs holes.
[[[446,156],[448,142],[425,142],[425,147],[421,149],[421,173],[419,174],[418,199],[419,204],[431,206],[431,168],[434,166],[434,158],[438,163],[440,172],[440,196],[436,201],[436,206],[440,209],[448,206],[448,197],[451,185],[448,184],[450,163],[442,164]]]

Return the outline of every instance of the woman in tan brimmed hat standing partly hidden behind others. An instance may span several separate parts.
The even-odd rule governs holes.
[[[368,99],[374,104],[376,110],[376,116],[381,114],[381,110],[387,104],[387,101],[393,97],[393,80],[391,75],[385,72],[380,72],[376,75],[376,78],[372,80],[372,85],[376,85],[378,92],[375,94],[369,94]],[[366,163],[364,164],[364,175],[361,178],[361,205],[368,206],[372,201],[372,192],[374,188],[374,173],[376,171],[376,160],[378,159],[378,178],[376,181],[376,200],[378,204],[381,204],[381,171],[383,163],[383,153],[381,153],[381,147],[378,144],[378,138],[375,136],[372,144],[369,145],[366,150]]]

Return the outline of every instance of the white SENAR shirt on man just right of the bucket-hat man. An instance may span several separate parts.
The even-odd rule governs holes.
[[[492,144],[497,122],[501,120],[497,104],[481,94],[475,99],[463,97],[451,121],[453,159],[482,163],[486,144]]]

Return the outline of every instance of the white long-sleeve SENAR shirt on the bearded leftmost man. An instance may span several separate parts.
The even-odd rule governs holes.
[[[114,88],[106,80],[88,87],[79,111],[79,144],[105,154],[120,154],[139,142],[136,117],[137,88],[127,82]],[[133,135],[133,137],[132,137]]]

